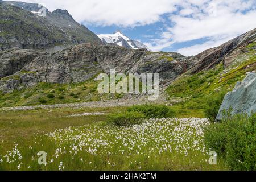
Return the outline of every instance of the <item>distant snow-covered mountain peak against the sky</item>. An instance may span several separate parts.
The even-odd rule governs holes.
[[[117,46],[123,46],[131,49],[146,48],[148,51],[150,51],[146,45],[137,40],[128,38],[121,31],[116,31],[114,34],[100,34],[98,37],[105,44],[115,44]]]

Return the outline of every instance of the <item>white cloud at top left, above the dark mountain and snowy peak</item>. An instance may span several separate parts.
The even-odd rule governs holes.
[[[143,26],[158,22],[164,13],[176,10],[175,2],[180,0],[23,0],[44,3],[53,11],[67,9],[79,22],[89,22],[101,26],[123,27]]]

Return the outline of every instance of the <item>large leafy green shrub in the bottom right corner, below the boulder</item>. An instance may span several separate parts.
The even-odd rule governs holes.
[[[256,113],[236,115],[205,129],[205,145],[232,170],[256,170]]]

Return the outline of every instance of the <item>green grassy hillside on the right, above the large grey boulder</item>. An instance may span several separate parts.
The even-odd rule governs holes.
[[[256,51],[247,53],[238,64],[224,70],[223,64],[215,68],[201,71],[195,75],[184,74],[177,78],[166,90],[170,98],[182,98],[193,100],[203,98],[216,92],[228,92],[233,90],[237,81],[242,81],[246,72],[256,69]],[[227,73],[226,73],[227,71]]]

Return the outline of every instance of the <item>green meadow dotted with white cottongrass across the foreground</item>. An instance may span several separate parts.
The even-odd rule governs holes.
[[[109,125],[106,122],[106,115],[65,117],[85,112],[113,113],[120,109],[125,110],[126,108],[1,111],[0,158],[6,160],[3,155],[7,150],[13,151],[14,143],[18,144],[17,150],[23,158],[19,160],[16,155],[14,163],[0,163],[0,170],[17,170],[20,162],[22,162],[20,168],[22,170],[58,170],[60,162],[65,165],[64,170],[227,169],[222,159],[218,160],[217,166],[210,166],[205,162],[209,156],[201,151],[189,149],[188,154],[185,155],[183,154],[185,151],[175,150],[178,143],[184,147],[193,146],[194,140],[201,141],[203,139],[196,135],[193,128],[187,126],[189,122],[173,121],[173,123],[159,119],[152,124],[148,121],[145,127],[138,128],[137,131],[131,127]],[[172,131],[175,131],[175,127],[186,128],[177,132],[181,132],[184,137],[189,134],[192,138],[185,137],[188,143],[171,142],[175,141],[175,136],[171,134]],[[52,133],[51,137],[46,133]],[[169,142],[164,142],[163,138],[168,139]],[[130,141],[136,142],[133,148],[131,148],[133,143]],[[77,150],[74,148],[79,146],[79,143],[82,144],[82,151],[80,151],[80,147]],[[128,145],[126,146],[125,143]],[[172,148],[172,152],[169,149],[165,151],[164,148],[169,148],[168,145]],[[202,148],[203,143],[200,142],[199,147]],[[60,148],[62,151],[58,151],[59,156],[56,157],[56,150],[60,150]],[[89,152],[89,148],[92,150],[97,148],[97,151]],[[36,154],[39,151],[47,152],[47,166],[38,165]],[[124,151],[123,154],[122,151]],[[52,163],[51,159],[54,159]]]

